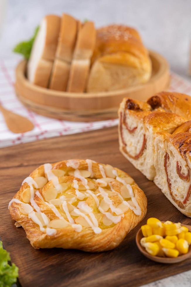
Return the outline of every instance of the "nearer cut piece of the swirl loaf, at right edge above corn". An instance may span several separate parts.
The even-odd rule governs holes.
[[[181,126],[180,126],[181,128]],[[191,217],[191,133],[157,133],[154,183],[186,216]]]

